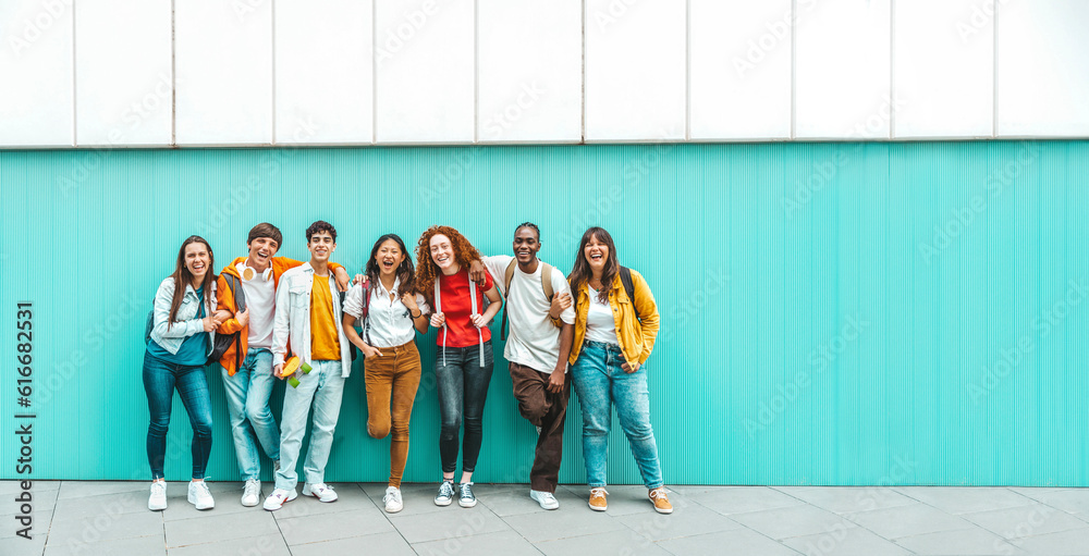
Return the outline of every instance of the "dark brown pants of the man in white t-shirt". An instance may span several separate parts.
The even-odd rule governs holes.
[[[527,421],[541,428],[537,452],[534,454],[534,468],[529,471],[529,487],[554,493],[560,481],[560,460],[563,458],[563,422],[567,417],[571,378],[566,378],[563,391],[556,394],[547,388],[550,374],[518,363],[511,363],[510,368],[518,412]]]

